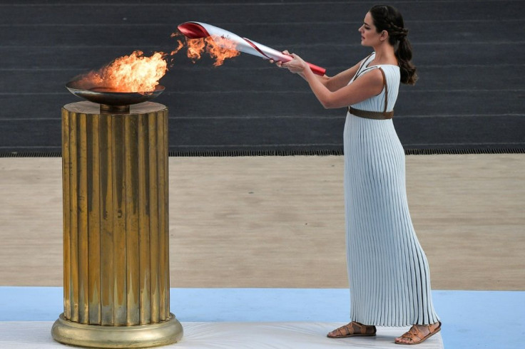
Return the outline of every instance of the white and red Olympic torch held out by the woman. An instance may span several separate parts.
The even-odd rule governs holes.
[[[225,31],[223,28],[218,28],[210,24],[205,24],[201,22],[185,22],[178,26],[178,30],[184,34],[187,38],[225,38],[229,41],[235,43],[235,49],[240,52],[249,53],[253,56],[258,56],[264,59],[272,59],[274,61],[288,62],[292,60],[292,56],[286,55],[280,51],[277,51],[268,46],[264,46],[261,43],[257,43],[248,38],[241,38],[240,36],[231,33],[230,31]],[[215,39],[213,40],[215,41]],[[215,41],[215,43],[220,43]],[[312,63],[308,63],[312,72],[317,75],[325,75],[326,69],[321,68],[320,66],[315,66]]]

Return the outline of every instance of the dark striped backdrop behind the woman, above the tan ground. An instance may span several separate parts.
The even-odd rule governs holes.
[[[61,150],[64,85],[134,50],[170,52],[185,21],[213,24],[327,68],[370,48],[372,1],[1,1],[0,153]],[[389,1],[403,14],[419,69],[394,125],[406,150],[525,149],[525,1]],[[325,110],[297,75],[241,54],[214,68],[179,53],[156,100],[169,108],[175,155],[340,152],[345,110]]]

